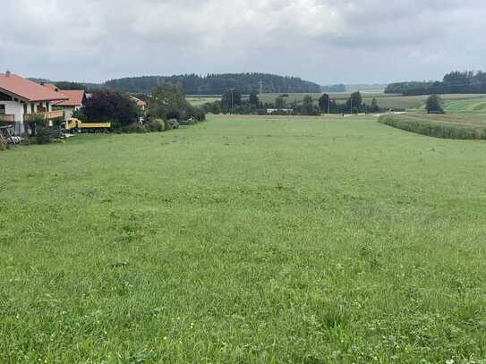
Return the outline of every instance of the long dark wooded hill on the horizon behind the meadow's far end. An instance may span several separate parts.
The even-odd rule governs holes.
[[[269,73],[183,74],[175,76],[143,76],[108,80],[108,89],[132,93],[149,93],[165,83],[177,83],[186,95],[222,95],[227,89],[239,89],[243,94],[258,93],[317,93],[320,86],[297,77]]]

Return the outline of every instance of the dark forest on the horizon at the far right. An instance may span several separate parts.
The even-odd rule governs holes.
[[[485,72],[459,72],[446,74],[442,81],[411,81],[390,83],[386,94],[404,96],[431,94],[483,94],[486,93]]]

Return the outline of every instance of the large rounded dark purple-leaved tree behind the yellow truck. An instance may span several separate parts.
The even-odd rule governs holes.
[[[111,122],[114,128],[139,120],[139,110],[130,97],[121,92],[98,91],[81,108],[88,122]]]

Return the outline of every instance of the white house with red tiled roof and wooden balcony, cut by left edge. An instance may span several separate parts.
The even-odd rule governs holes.
[[[52,125],[64,119],[63,110],[54,110],[70,97],[11,72],[0,73],[0,123],[11,123],[17,134],[29,132],[28,124],[37,114]]]

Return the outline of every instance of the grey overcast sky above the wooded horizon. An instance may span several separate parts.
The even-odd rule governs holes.
[[[0,67],[51,80],[271,72],[320,84],[486,71],[484,0],[1,0]]]

